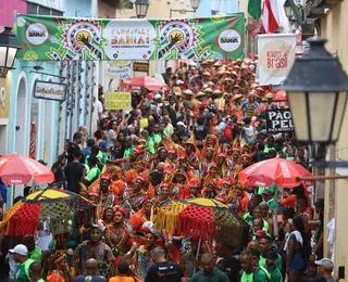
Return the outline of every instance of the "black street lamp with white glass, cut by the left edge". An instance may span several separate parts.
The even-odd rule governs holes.
[[[0,77],[5,78],[10,69],[13,69],[13,64],[18,49],[21,49],[18,41],[12,27],[4,27],[3,33],[0,34]]]

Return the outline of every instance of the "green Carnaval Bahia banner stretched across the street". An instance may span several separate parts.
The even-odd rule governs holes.
[[[244,57],[244,14],[99,20],[18,15],[20,60],[115,61]]]

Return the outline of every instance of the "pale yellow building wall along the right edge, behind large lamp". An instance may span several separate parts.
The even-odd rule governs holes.
[[[337,53],[344,69],[348,70],[348,0],[343,0],[332,8],[328,14],[321,21],[321,36],[328,39],[326,48],[332,53]],[[336,146],[337,157],[348,161],[348,108],[340,131],[340,138]],[[344,172],[348,175],[347,170]],[[335,187],[335,273],[339,266],[346,267],[346,279],[348,281],[348,220],[347,198],[348,181],[338,180]]]

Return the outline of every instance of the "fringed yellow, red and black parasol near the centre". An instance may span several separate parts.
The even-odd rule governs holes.
[[[226,205],[204,197],[182,200],[161,207],[154,225],[171,235],[176,233],[201,240],[223,233],[224,241],[231,245],[240,244],[244,231],[240,220]]]

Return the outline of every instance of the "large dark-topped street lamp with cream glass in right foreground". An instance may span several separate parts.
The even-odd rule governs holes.
[[[296,59],[281,87],[287,91],[296,139],[322,148],[337,142],[348,97],[348,77],[324,48],[326,41],[309,39],[309,51]]]

